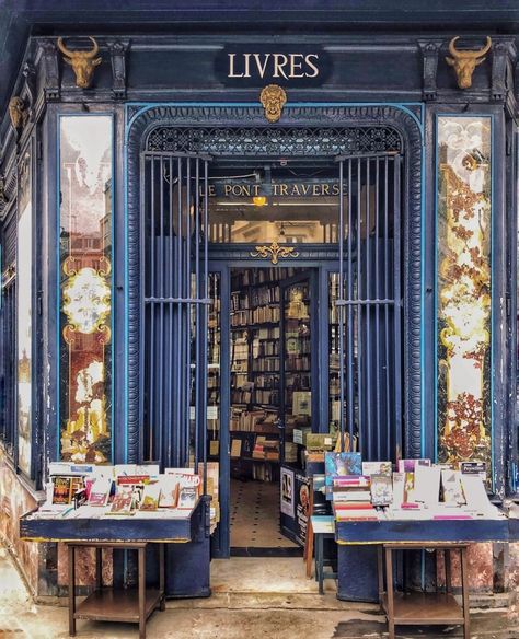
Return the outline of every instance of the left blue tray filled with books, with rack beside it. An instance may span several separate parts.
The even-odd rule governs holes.
[[[203,489],[193,468],[154,464],[50,463],[46,501],[21,519],[24,539],[192,539],[192,516]],[[207,464],[211,532],[219,521],[218,463]],[[128,525],[128,521],[131,521]]]

